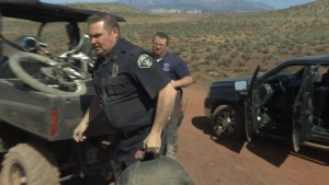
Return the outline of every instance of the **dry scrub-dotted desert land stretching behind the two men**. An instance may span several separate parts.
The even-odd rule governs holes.
[[[189,65],[196,81],[262,72],[293,57],[325,55],[329,50],[329,4],[326,0],[285,11],[262,14],[155,15],[113,3],[78,3],[70,7],[100,9],[126,19],[122,36],[150,49],[157,31],[171,36],[171,51]],[[4,35],[12,38],[35,31],[34,24],[5,20]],[[50,49],[66,49],[64,25],[47,26],[43,38]],[[63,32],[63,33],[61,33]],[[81,23],[81,33],[86,24]],[[33,33],[31,33],[33,34]]]

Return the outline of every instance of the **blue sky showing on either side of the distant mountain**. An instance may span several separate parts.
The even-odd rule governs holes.
[[[116,0],[41,0],[50,3],[71,3],[71,2],[113,2]],[[285,9],[296,4],[311,2],[314,0],[249,0],[254,2],[264,2],[275,9]]]

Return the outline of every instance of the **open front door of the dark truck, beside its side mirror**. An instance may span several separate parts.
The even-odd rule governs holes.
[[[258,115],[260,112],[260,99],[259,99],[259,81],[258,72],[260,66],[258,66],[252,74],[250,85],[248,89],[247,99],[245,101],[245,120],[246,120],[246,136],[247,141],[251,141],[251,135],[257,131],[259,126]]]

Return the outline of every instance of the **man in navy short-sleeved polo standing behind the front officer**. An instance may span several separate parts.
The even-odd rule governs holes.
[[[193,83],[193,78],[186,63],[178,56],[168,51],[169,36],[158,32],[152,38],[152,55],[160,68],[171,78],[171,83],[178,91],[173,112],[167,124],[167,150],[166,155],[175,159],[178,150],[178,127],[183,119],[182,88]]]

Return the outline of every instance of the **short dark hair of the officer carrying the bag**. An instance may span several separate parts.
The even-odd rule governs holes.
[[[100,13],[92,14],[87,19],[88,25],[100,22],[100,21],[104,21],[104,26],[105,26],[104,28],[106,28],[109,31],[113,30],[115,27],[117,27],[120,30],[116,18],[110,13],[100,12]]]

